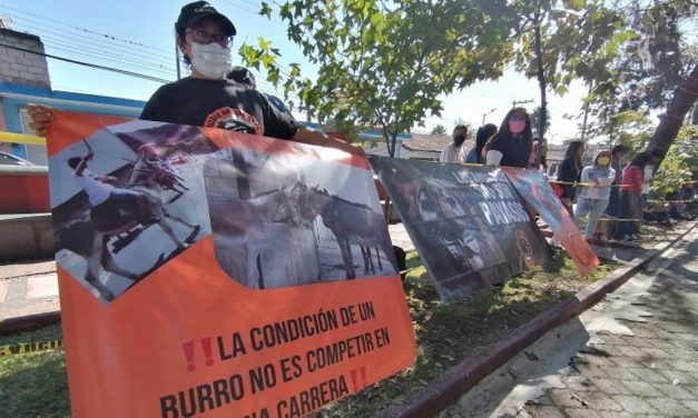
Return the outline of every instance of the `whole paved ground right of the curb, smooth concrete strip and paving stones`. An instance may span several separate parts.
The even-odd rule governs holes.
[[[452,417],[698,417],[698,230],[444,410]]]

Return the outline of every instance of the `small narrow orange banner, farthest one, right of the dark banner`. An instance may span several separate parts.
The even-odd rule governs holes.
[[[570,256],[579,273],[587,276],[599,265],[593,249],[579,233],[579,228],[550,187],[548,179],[537,170],[504,167],[504,173],[517,191],[548,223],[553,237]]]

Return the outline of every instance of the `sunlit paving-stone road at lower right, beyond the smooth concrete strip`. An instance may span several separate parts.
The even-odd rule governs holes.
[[[670,263],[628,307],[643,310],[647,322],[591,332],[596,344],[572,359],[562,385],[530,399],[517,418],[698,417],[698,233],[665,258]]]

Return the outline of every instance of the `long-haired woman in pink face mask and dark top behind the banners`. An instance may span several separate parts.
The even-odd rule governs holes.
[[[499,132],[486,146],[486,165],[527,168],[532,139],[529,113],[523,108],[511,109],[504,117]]]

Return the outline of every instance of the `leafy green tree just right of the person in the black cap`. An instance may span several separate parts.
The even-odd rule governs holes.
[[[318,67],[317,78],[284,80],[305,109],[341,126],[380,127],[390,156],[396,137],[431,113],[439,96],[502,74],[511,54],[514,20],[505,0],[293,0],[278,4],[288,37]],[[263,3],[263,14],[274,9]],[[264,66],[269,81],[282,73],[278,51],[266,41],[245,46],[248,66]],[[295,73],[294,73],[295,71]]]

